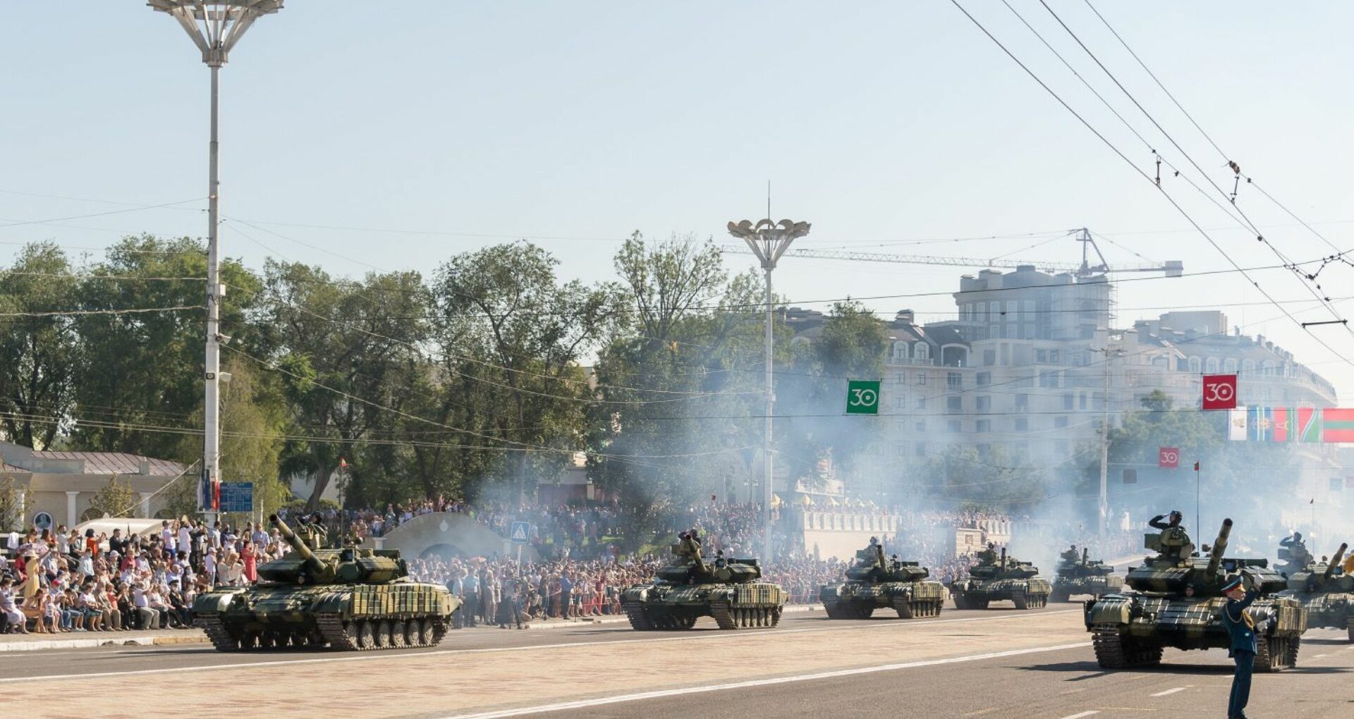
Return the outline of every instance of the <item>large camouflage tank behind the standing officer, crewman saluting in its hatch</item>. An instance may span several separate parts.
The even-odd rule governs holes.
[[[1274,596],[1288,581],[1267,559],[1223,557],[1231,532],[1232,520],[1224,520],[1212,550],[1205,547],[1208,557],[1190,551],[1193,544],[1181,527],[1148,533],[1147,548],[1159,554],[1128,570],[1127,584],[1135,592],[1086,603],[1095,661],[1105,669],[1127,669],[1160,663],[1163,647],[1227,649],[1231,638],[1221,620],[1227,605],[1221,589],[1243,575],[1261,592],[1246,609],[1255,622],[1255,670],[1296,666],[1307,611],[1292,597]]]

